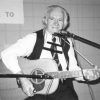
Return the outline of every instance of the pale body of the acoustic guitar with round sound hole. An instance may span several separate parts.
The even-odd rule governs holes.
[[[43,75],[46,72],[58,71],[57,64],[52,59],[28,60],[18,58],[18,61],[24,73],[29,75]],[[29,80],[36,89],[36,94],[51,94],[56,91],[59,85],[59,79],[29,78]]]

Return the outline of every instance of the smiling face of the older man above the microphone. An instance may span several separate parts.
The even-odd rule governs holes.
[[[64,16],[60,9],[55,9],[50,12],[47,19],[47,31],[51,34],[59,32],[64,25]]]

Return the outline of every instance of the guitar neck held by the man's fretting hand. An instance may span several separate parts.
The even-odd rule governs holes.
[[[99,70],[96,70],[96,69],[84,69],[83,71],[85,70],[93,71],[93,73],[96,73],[97,71],[99,72]],[[83,76],[82,70],[47,72],[46,74],[52,76],[53,78],[59,78],[59,79],[77,78],[77,77]]]

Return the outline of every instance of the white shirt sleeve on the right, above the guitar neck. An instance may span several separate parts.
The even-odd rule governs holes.
[[[69,70],[80,70],[80,67],[77,64],[77,60],[75,57],[75,52],[73,48],[73,44],[70,38],[68,38],[68,41],[70,43],[70,48],[68,51],[68,56],[69,56]]]

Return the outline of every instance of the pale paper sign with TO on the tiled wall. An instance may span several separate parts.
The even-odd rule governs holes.
[[[0,24],[24,24],[23,0],[0,0]]]

